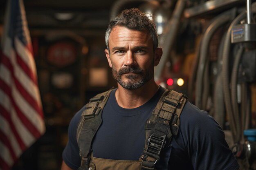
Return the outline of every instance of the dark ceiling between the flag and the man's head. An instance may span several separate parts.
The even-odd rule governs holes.
[[[72,30],[84,35],[103,33],[116,0],[24,0],[29,29],[35,32]],[[7,0],[0,0],[0,26]],[[59,13],[72,13],[69,20],[58,20]]]

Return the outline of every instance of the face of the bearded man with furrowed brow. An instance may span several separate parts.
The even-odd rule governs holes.
[[[105,53],[112,75],[122,87],[137,89],[153,79],[155,60],[148,31],[116,26],[110,33],[109,50]]]

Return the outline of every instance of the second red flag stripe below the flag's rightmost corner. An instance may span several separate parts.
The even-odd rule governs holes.
[[[20,145],[20,149],[25,150],[27,148],[27,146],[24,144],[24,142],[20,138],[20,135],[18,134],[13,122],[11,121],[10,113],[8,113],[7,110],[5,110],[1,104],[0,104],[0,114],[8,121],[9,126],[13,132],[13,135],[16,137],[18,144]]]

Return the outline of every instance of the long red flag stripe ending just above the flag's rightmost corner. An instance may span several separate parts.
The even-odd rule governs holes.
[[[13,77],[16,88],[18,89],[20,94],[24,97],[24,99],[26,99],[26,101],[29,103],[29,105],[31,107],[33,107],[34,110],[36,110],[38,115],[40,115],[40,117],[43,118],[43,111],[40,108],[40,106],[38,105],[38,102],[25,90],[25,88],[23,88],[23,86],[20,84],[20,82],[16,79],[16,77],[14,76],[13,66],[12,66],[9,58],[7,58],[5,55],[2,55],[2,64],[4,64],[7,68],[9,68],[9,71],[11,72],[11,75]]]

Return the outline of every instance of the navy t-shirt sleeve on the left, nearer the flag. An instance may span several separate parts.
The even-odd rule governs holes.
[[[81,109],[83,110],[83,109]],[[76,131],[81,119],[81,110],[74,115],[68,127],[68,142],[63,150],[62,159],[70,168],[76,170],[81,164],[81,157],[79,156],[79,146],[76,141]]]

